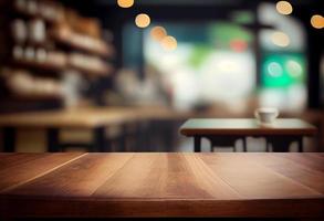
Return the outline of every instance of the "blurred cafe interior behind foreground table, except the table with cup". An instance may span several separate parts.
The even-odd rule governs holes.
[[[324,150],[322,0],[0,0],[0,11],[1,151],[192,151],[186,119],[261,106],[315,125],[304,151]],[[266,150],[248,138],[248,151]]]

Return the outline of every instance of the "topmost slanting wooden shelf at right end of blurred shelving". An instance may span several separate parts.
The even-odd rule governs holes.
[[[82,51],[86,53],[91,53],[93,55],[98,55],[103,57],[109,57],[114,55],[114,48],[112,44],[107,44],[103,40],[93,39],[86,35],[69,32],[52,32],[52,39],[66,46],[70,46],[72,50]],[[85,41],[81,41],[81,39],[86,39]],[[85,42],[88,43],[85,43]]]

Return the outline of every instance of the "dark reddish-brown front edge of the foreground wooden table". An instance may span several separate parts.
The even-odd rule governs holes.
[[[324,218],[324,198],[249,200],[108,200],[0,198],[1,217]],[[18,209],[19,208],[19,209]]]

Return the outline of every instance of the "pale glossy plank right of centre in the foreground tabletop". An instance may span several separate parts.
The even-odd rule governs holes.
[[[201,155],[201,159],[244,199],[292,199],[322,196],[316,190],[292,181],[272,169],[261,167],[249,155]]]

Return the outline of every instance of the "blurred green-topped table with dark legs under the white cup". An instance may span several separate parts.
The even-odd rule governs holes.
[[[274,151],[288,151],[289,145],[297,141],[302,151],[303,136],[314,136],[316,127],[295,118],[279,118],[271,126],[262,126],[253,118],[194,118],[181,126],[180,133],[194,137],[195,151],[201,151],[201,137],[210,139],[212,146],[233,146],[241,138],[243,150],[247,151],[248,136],[265,137],[266,145],[272,144]]]

